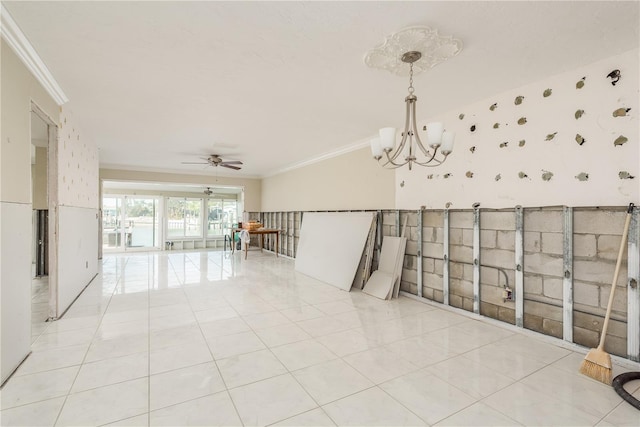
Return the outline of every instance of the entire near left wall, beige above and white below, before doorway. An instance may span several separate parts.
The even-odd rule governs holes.
[[[58,107],[4,39],[0,44],[0,382],[31,344],[31,102]]]

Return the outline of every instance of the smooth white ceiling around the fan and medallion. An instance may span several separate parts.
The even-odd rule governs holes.
[[[637,1],[3,2],[103,166],[265,176],[404,120],[407,80],[364,65],[413,25],[462,39],[415,78],[422,118],[638,46]]]

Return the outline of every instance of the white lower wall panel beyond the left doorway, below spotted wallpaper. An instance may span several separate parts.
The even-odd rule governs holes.
[[[98,210],[58,209],[59,317],[98,273]]]

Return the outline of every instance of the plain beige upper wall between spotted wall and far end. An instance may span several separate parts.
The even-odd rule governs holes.
[[[392,209],[394,204],[394,172],[380,167],[369,148],[262,180],[263,212]]]

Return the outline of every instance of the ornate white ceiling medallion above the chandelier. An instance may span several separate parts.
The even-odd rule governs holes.
[[[409,68],[401,58],[410,51],[422,53],[422,57],[413,64],[413,74],[419,74],[459,54],[462,41],[452,36],[441,36],[433,28],[409,27],[391,34],[384,43],[367,52],[364,62],[371,68],[408,76]]]

